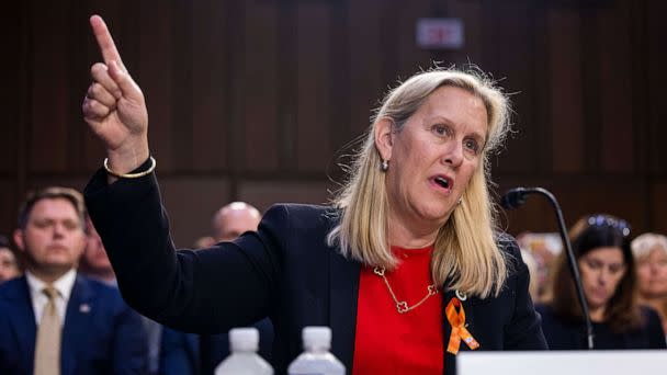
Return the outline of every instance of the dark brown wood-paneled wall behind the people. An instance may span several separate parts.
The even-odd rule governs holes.
[[[513,93],[498,192],[552,190],[567,224],[608,212],[667,232],[667,2],[651,0],[14,1],[0,23],[0,232],[29,189],[82,189],[103,152],[81,118],[105,18],[144,89],[173,237],[230,200],[323,203],[397,78],[473,61]],[[416,46],[419,18],[464,22],[460,50]],[[531,198],[510,232],[554,230]]]

